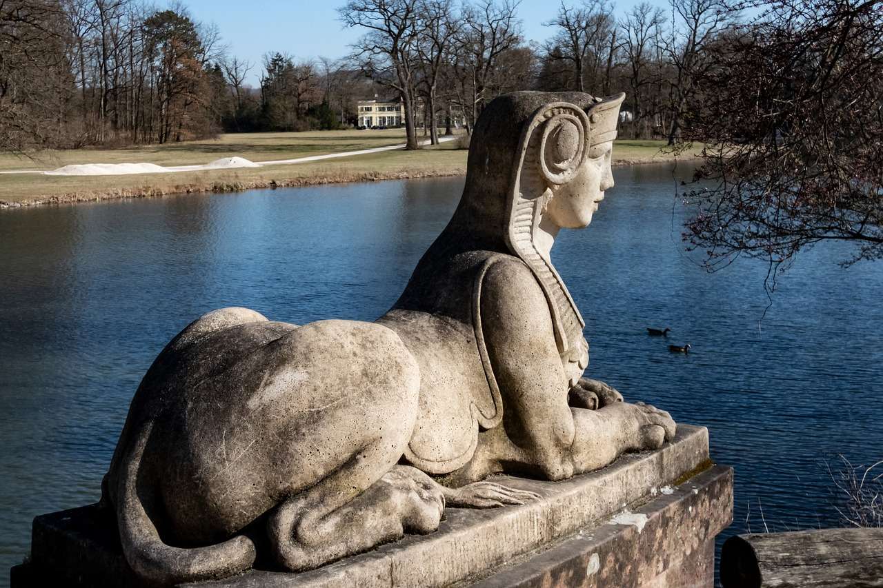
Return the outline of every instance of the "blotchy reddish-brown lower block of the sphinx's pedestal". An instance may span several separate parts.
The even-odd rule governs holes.
[[[659,494],[631,519],[615,516],[502,569],[474,588],[711,588],[714,538],[733,520],[733,471],[713,466]]]

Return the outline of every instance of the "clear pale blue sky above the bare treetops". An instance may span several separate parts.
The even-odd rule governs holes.
[[[639,4],[640,0],[618,0],[615,14]],[[347,47],[364,33],[344,28],[337,20],[337,7],[345,0],[185,0],[194,19],[217,25],[230,56],[254,65],[250,83],[258,86],[260,64],[265,53],[279,51],[298,58],[343,57]],[[571,1],[568,4],[576,4]],[[666,0],[650,0],[663,9]],[[518,17],[527,41],[544,41],[551,29],[542,26],[552,19],[557,0],[522,0]]]

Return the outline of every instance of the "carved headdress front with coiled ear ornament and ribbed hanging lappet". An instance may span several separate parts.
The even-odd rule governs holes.
[[[549,301],[555,342],[563,354],[577,349],[585,320],[561,276],[537,251],[533,237],[540,225],[548,185],[564,185],[591,156],[592,147],[616,137],[619,109],[625,94],[594,98],[584,108],[552,102],[536,109],[518,141],[517,165],[509,194],[507,245],[532,269]]]

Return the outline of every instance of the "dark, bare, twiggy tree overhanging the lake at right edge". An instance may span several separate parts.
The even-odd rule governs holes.
[[[686,225],[708,268],[823,241],[883,258],[883,7],[779,0],[708,49],[684,120],[708,144]],[[773,271],[772,275],[775,273]]]

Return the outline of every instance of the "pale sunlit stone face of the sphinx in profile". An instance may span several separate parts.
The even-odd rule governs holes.
[[[592,146],[577,175],[567,184],[552,188],[544,218],[562,229],[583,229],[592,222],[592,215],[604,192],[613,187],[610,158],[613,141]]]

